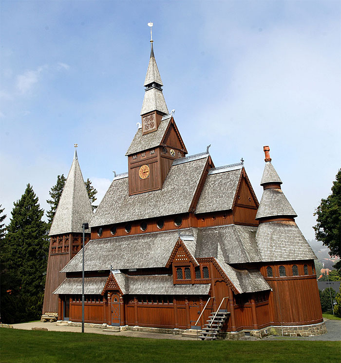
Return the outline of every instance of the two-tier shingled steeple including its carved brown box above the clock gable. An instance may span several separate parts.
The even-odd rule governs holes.
[[[159,124],[158,119],[161,120],[161,118],[157,117],[157,114],[160,115],[161,117],[163,115],[168,114],[168,108],[162,93],[163,84],[159,73],[159,69],[157,68],[157,64],[155,61],[152,39],[151,39],[151,57],[148,64],[144,86],[146,87],[146,89],[141,109],[142,127],[143,127],[143,132],[146,131],[152,132],[156,131],[157,129],[157,126]],[[148,123],[147,129],[144,128],[144,119],[146,119],[145,121]],[[150,127],[151,123],[154,123],[155,127],[151,128]]]

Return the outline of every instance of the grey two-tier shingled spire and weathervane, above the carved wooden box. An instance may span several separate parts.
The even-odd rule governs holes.
[[[144,87],[146,87],[146,93],[142,103],[141,116],[152,111],[160,111],[163,114],[168,114],[166,101],[162,94],[163,84],[154,56],[152,40],[153,23],[150,22],[148,25],[151,27],[151,57],[148,64],[146,79],[143,84]]]

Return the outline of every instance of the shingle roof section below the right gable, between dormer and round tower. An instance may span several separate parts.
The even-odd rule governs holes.
[[[226,263],[260,261],[256,231],[257,227],[235,224],[199,228],[195,257],[219,257]]]

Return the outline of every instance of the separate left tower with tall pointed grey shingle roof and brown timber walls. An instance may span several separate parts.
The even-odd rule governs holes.
[[[74,160],[49,232],[50,248],[47,262],[43,315],[55,315],[57,317],[58,297],[52,293],[65,280],[65,273],[59,273],[59,271],[81,249],[82,224],[89,222],[92,215],[92,206],[75,149]],[[90,231],[86,232],[85,242],[88,242]]]

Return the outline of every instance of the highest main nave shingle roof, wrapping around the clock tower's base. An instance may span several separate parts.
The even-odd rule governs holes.
[[[91,227],[143,218],[186,213],[208,159],[172,165],[161,190],[129,196],[128,178],[112,182],[89,225]]]

